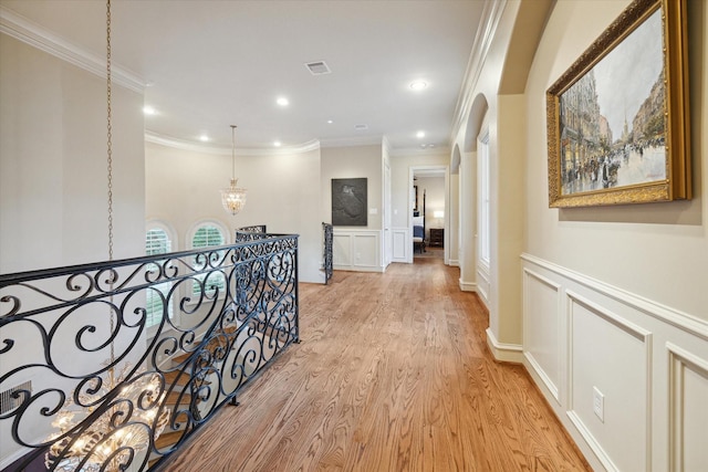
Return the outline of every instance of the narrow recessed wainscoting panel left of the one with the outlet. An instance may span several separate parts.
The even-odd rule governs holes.
[[[564,323],[560,315],[560,285],[538,273],[524,270],[523,346],[527,360],[543,380],[556,402],[561,382],[560,334]]]

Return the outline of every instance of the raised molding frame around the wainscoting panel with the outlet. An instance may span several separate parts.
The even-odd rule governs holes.
[[[654,370],[653,365],[653,356],[652,356],[652,347],[653,347],[653,336],[652,333],[637,326],[634,323],[631,323],[627,319],[624,319],[621,316],[612,313],[608,308],[592,302],[591,300],[573,292],[572,290],[565,291],[566,301],[568,301],[568,416],[571,418],[571,421],[579,429],[579,432],[583,436],[587,444],[593,449],[593,452],[597,455],[600,461],[605,465],[607,470],[618,470],[617,466],[612,462],[602,444],[595,439],[592,432],[585,427],[582,419],[574,412],[573,407],[573,376],[575,375],[573,369],[573,363],[570,359],[573,358],[573,305],[581,305],[585,307],[591,314],[597,316],[606,323],[612,324],[613,326],[622,329],[624,333],[629,336],[636,338],[642,342],[644,345],[644,356],[646,363],[646,385],[645,385],[645,395],[646,395],[646,411],[645,415],[645,424],[646,424],[646,438],[645,438],[645,447],[644,454],[646,461],[646,471],[652,470],[652,373]],[[582,424],[580,427],[579,424]]]

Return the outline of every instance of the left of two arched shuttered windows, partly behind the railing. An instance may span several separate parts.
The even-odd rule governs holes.
[[[148,225],[149,228],[149,225]],[[173,251],[173,240],[166,228],[153,224],[145,234],[145,253],[147,255],[167,254]],[[146,266],[147,271],[159,271],[159,262],[152,263]],[[173,317],[173,300],[167,298],[171,282],[163,282],[147,290],[145,308],[147,311],[146,327],[156,326],[163,319],[163,316]],[[165,301],[167,306],[165,307]]]

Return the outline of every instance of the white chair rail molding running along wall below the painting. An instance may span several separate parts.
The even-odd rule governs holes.
[[[579,272],[565,269],[552,262],[537,258],[534,255],[523,253],[521,259],[554,272],[563,277],[566,277],[573,282],[586,286],[602,295],[605,295],[614,301],[617,301],[624,305],[627,305],[636,311],[639,311],[646,315],[657,318],[664,323],[675,326],[679,329],[688,332],[695,336],[698,336],[705,340],[708,340],[708,322],[700,319],[688,313],[674,310],[669,306],[662,305],[652,300],[627,292],[626,290],[616,287],[605,282],[601,282],[596,279],[583,275]]]

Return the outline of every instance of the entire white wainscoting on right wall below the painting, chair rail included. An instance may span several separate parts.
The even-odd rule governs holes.
[[[593,469],[708,471],[708,322],[521,259],[523,364]]]

